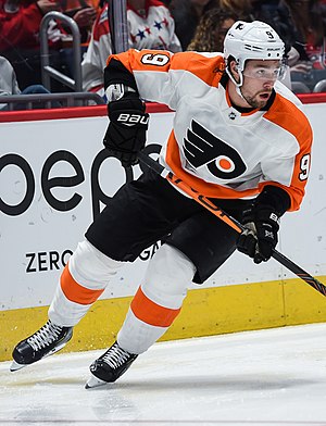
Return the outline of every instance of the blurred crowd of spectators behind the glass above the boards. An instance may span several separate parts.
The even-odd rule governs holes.
[[[40,24],[53,11],[78,26],[83,89],[103,96],[112,52],[105,0],[0,0],[0,95],[73,91],[55,79],[50,88],[41,84]],[[128,42],[137,49],[223,52],[237,20],[264,21],[280,35],[294,92],[312,92],[326,80],[326,0],[127,0]],[[46,40],[51,66],[74,78],[71,27],[51,18]]]

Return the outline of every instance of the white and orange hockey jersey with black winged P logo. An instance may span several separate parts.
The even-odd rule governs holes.
[[[221,84],[221,53],[129,50],[111,59],[134,74],[140,97],[175,111],[162,162],[200,193],[252,198],[275,185],[298,210],[304,196],[312,129],[299,99],[276,82],[266,109],[240,113]]]

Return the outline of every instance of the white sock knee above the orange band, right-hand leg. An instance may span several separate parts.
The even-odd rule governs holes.
[[[180,308],[196,267],[178,249],[163,245],[151,259],[141,290],[153,302],[171,309]]]

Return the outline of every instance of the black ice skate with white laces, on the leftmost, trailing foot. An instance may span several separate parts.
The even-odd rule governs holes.
[[[15,372],[60,351],[72,336],[73,327],[60,327],[49,320],[38,331],[16,344],[10,371]]]

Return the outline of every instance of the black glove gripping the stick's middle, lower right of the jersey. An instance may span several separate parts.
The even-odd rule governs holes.
[[[278,241],[278,215],[268,205],[256,203],[244,211],[242,223],[246,230],[238,238],[238,250],[252,258],[254,263],[269,260]]]

